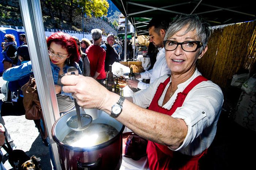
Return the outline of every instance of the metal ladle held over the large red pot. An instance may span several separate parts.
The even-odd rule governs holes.
[[[75,67],[69,67],[67,69],[68,75],[78,75],[78,70]],[[67,126],[74,131],[83,131],[88,128],[93,121],[93,118],[89,114],[80,114],[80,106],[74,99],[76,107],[76,115],[71,116],[67,120]]]

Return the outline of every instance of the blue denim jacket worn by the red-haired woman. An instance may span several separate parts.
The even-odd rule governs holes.
[[[57,84],[60,68],[57,65],[53,64],[52,62],[50,62],[50,64],[51,64],[51,68],[52,68],[53,82],[54,82],[54,84]],[[76,69],[78,69],[79,74],[82,74],[82,71],[77,63],[74,63],[72,66],[75,67]],[[69,67],[70,66],[68,66],[68,65],[64,66],[64,68],[63,68],[64,73],[67,73],[67,69]],[[31,61],[28,61],[27,63],[24,63],[22,65],[15,66],[15,67],[5,70],[3,73],[3,79],[5,81],[10,82],[10,81],[22,79],[25,76],[31,75],[31,74],[33,74],[32,64],[31,64]],[[61,89],[60,95],[67,95],[71,99],[73,99],[71,93],[65,93],[62,89]]]

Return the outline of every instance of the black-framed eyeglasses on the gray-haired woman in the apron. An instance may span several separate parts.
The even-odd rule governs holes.
[[[166,51],[173,51],[175,50],[178,45],[181,45],[182,50],[186,52],[195,52],[198,48],[203,46],[203,43],[200,41],[184,41],[184,42],[176,42],[166,40],[163,41],[163,46],[165,47]]]

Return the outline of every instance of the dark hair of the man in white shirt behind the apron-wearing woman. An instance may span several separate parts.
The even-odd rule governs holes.
[[[152,18],[147,28],[155,27],[155,32],[160,34],[160,30],[167,30],[170,25],[170,18]]]

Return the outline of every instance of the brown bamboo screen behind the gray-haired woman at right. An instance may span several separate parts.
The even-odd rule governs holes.
[[[238,69],[249,69],[256,60],[255,26],[247,22],[212,30],[208,50],[197,66],[202,75],[225,88]]]

